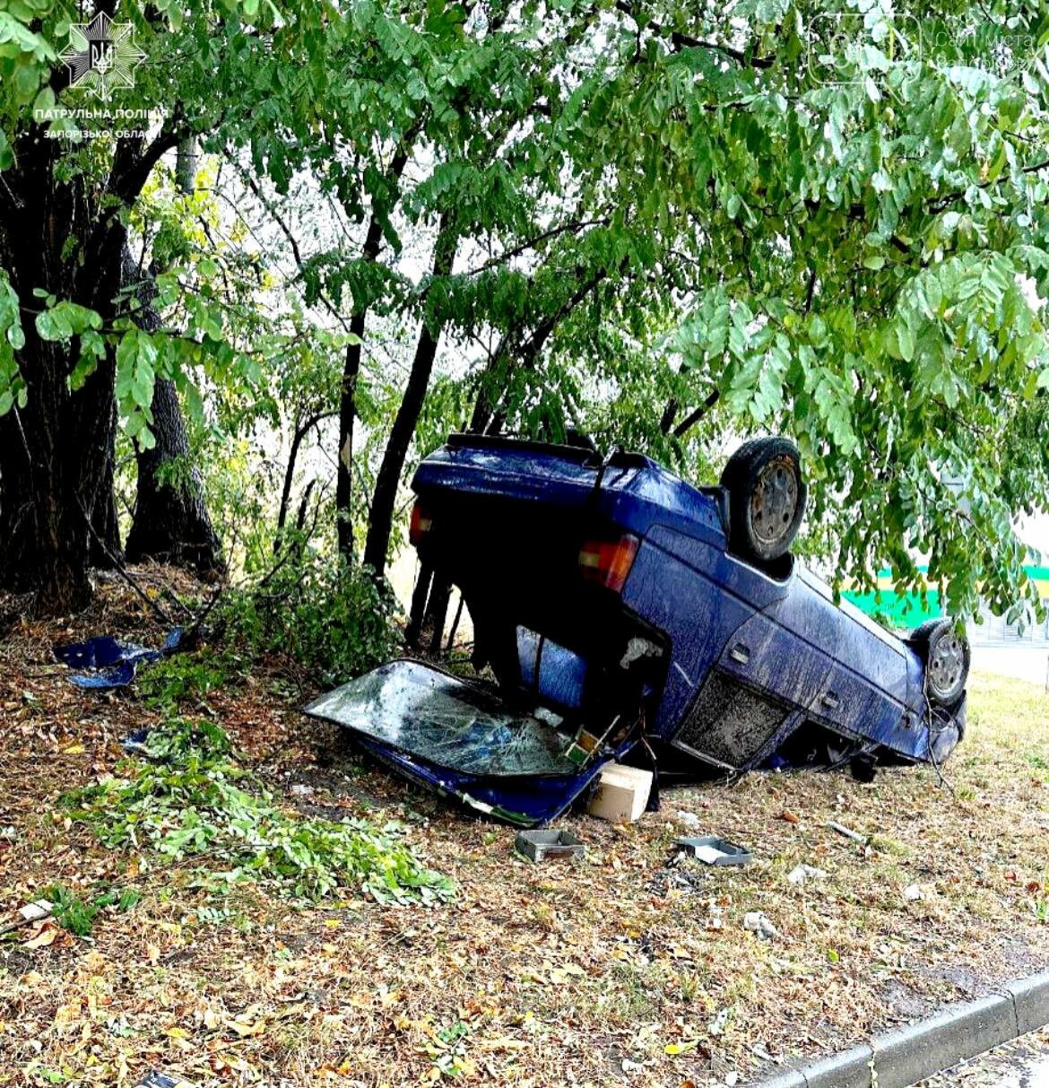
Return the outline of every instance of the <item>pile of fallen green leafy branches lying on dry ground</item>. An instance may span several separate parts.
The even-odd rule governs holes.
[[[400,827],[303,818],[277,806],[240,767],[217,726],[173,719],[150,732],[145,761],[125,761],[122,777],[63,798],[114,850],[150,849],[164,862],[207,856],[223,885],[263,881],[286,894],[321,899],[360,889],[379,902],[447,899],[447,877],[425,868],[398,841]]]

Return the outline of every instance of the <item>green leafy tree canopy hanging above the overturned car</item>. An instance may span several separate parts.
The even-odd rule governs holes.
[[[0,171],[17,170],[28,111],[54,98],[73,12],[0,12]],[[29,310],[77,356],[74,384],[117,345],[122,415],[145,437],[158,375],[262,391],[247,399],[275,421],[305,395],[294,368],[269,380],[296,345],[334,391],[338,337],[366,307],[440,327],[476,360],[436,383],[419,449],[462,425],[478,390],[508,428],[594,425],[683,467],[726,434],[783,431],[840,576],[890,564],[913,584],[927,558],[959,613],[978,593],[1006,610],[1032,592],[1011,526],[1049,495],[1038,9],[245,0],[122,3],[118,17],[165,58],[122,106],[164,106],[165,126],[247,171],[285,225],[304,177],[347,230],[319,231],[290,272],[255,258],[267,298],[298,298],[264,313],[223,275],[247,271],[243,238],[218,258],[202,259],[207,237],[175,247],[160,301],[178,320],[155,333],[100,327],[48,285],[20,299],[0,274],[0,410],[25,395]],[[71,141],[63,162],[102,186],[117,150]],[[378,259],[358,230],[372,213]],[[432,246],[439,221],[455,267],[407,274],[403,255]],[[373,442],[400,374],[366,353]]]

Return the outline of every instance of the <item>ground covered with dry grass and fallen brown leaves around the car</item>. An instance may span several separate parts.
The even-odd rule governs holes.
[[[459,888],[428,910],[311,906],[216,897],[192,864],[105,851],[55,809],[155,720],[54,666],[53,642],[103,631],[161,636],[112,588],[72,623],[0,623],[0,924],[57,879],[141,892],[85,938],[38,924],[0,939],[0,1084],[151,1068],[200,1086],[747,1084],[1049,963],[1049,695],[1033,684],[973,678],[947,782],[892,768],[669,791],[636,825],[566,818],[585,861],[533,866],[512,829],[362,765],[299,714],[310,691],[259,669],[195,712],[289,805],[402,820]],[[755,861],[667,867],[682,833]],[[802,863],[826,876],[789,882]],[[744,928],[753,911],[776,937]]]

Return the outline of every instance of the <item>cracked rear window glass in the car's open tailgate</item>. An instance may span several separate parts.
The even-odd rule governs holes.
[[[500,700],[420,662],[391,662],[314,700],[307,714],[472,775],[576,775],[558,719]],[[537,712],[542,713],[542,712]]]

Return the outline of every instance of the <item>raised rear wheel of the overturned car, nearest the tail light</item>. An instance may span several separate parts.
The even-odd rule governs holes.
[[[721,474],[728,492],[728,544],[746,559],[767,562],[790,551],[804,516],[801,455],[787,438],[751,438]]]

